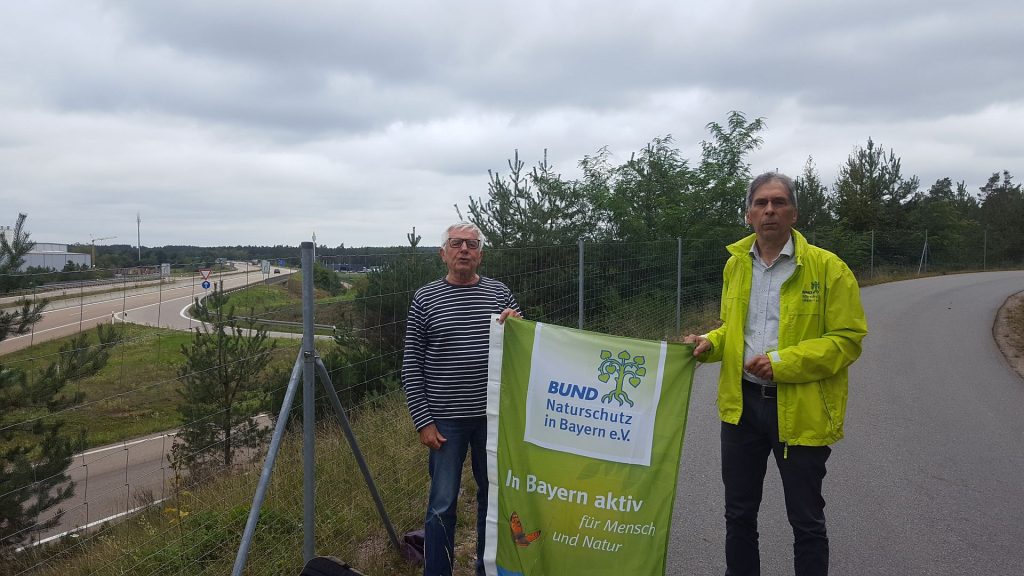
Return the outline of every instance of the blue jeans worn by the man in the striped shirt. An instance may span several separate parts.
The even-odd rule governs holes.
[[[476,480],[476,574],[483,575],[483,534],[487,518],[487,419],[434,420],[447,442],[430,451],[430,498],[424,526],[424,576],[451,576],[455,560],[456,511],[466,451]]]

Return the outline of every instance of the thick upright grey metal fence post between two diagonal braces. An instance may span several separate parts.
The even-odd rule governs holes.
[[[316,383],[315,352],[313,351],[313,250],[312,242],[303,242],[302,254],[302,559],[309,562],[316,556],[313,534],[314,500],[314,431],[316,412],[313,386]]]

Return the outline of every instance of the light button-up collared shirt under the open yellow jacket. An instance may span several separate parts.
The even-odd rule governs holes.
[[[751,296],[746,308],[746,325],[743,327],[743,366],[759,354],[778,347],[779,295],[782,283],[797,271],[797,260],[793,257],[793,235],[782,247],[782,251],[771,265],[761,259],[758,243],[751,246]],[[774,385],[771,380],[759,378],[743,371],[743,378],[760,384]]]

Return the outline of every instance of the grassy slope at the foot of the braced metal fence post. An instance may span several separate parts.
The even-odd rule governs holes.
[[[400,393],[380,399],[351,416],[360,449],[374,472],[385,507],[399,536],[419,529],[426,506],[426,452],[416,440]],[[246,574],[298,574],[302,566],[302,435],[282,443],[255,532]],[[413,576],[390,545],[352,451],[340,427],[324,423],[316,434],[317,554],[341,558],[366,574]],[[206,486],[178,490],[157,507],[78,540],[33,549],[18,559],[15,573],[188,576],[228,574],[234,562],[262,458]],[[472,574],[475,492],[472,480],[460,500],[458,576]]]

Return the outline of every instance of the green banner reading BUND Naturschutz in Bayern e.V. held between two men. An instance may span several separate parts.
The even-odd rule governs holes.
[[[665,574],[692,351],[493,323],[488,575]]]

